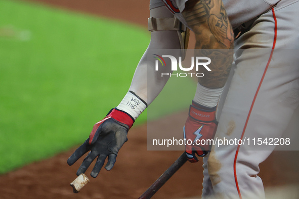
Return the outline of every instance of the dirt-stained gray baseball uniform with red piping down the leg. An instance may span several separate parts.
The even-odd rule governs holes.
[[[185,2],[151,0],[150,8],[166,6],[186,24],[181,15]],[[219,102],[216,137],[251,141],[261,138],[267,145],[271,139],[281,137],[299,104],[299,2],[223,3],[234,28],[253,21],[248,31],[235,40],[235,60]],[[274,146],[260,151],[253,142],[214,146],[203,158],[202,198],[265,198],[259,164]]]

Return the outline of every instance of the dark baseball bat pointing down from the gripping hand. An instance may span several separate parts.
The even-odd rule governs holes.
[[[151,198],[170,177],[172,177],[187,162],[184,152],[140,197],[139,199]]]

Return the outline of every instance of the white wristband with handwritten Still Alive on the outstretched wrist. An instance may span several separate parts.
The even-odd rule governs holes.
[[[146,107],[146,103],[139,96],[128,91],[116,108],[130,114],[135,120]]]

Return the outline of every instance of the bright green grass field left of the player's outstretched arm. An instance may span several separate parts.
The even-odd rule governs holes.
[[[86,139],[149,42],[130,24],[0,1],[0,173]],[[138,120],[146,120],[143,114]]]

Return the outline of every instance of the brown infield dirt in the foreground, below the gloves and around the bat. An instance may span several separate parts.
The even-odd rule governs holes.
[[[164,121],[177,123],[181,116],[173,115]],[[146,130],[146,125],[133,127],[114,168],[109,172],[103,169],[96,179],[90,177],[89,169],[87,175],[91,182],[77,194],[72,192],[69,183],[76,178],[82,159],[71,167],[66,163],[73,148],[0,176],[0,198],[137,198],[182,154],[180,151],[147,151]],[[200,164],[185,164],[155,198],[199,195],[201,179]]]

